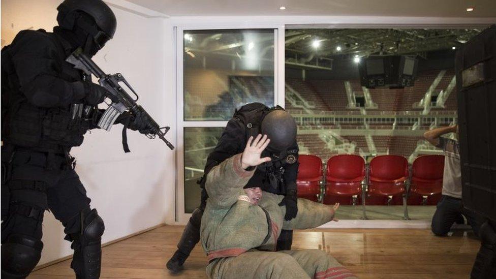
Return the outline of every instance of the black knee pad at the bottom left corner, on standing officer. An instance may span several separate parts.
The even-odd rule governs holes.
[[[2,277],[27,276],[40,261],[43,242],[22,234],[11,234],[2,244]]]

